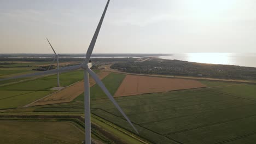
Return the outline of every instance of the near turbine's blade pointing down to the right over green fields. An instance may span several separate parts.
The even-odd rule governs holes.
[[[104,91],[104,93],[107,94],[108,98],[112,101],[112,103],[117,107],[117,109],[122,113],[122,115],[125,117],[126,121],[132,126],[132,128],[136,131],[138,134],[137,129],[134,127],[134,125],[131,123],[130,119],[125,115],[124,111],[121,109],[121,107],[118,105],[117,101],[112,97],[112,95],[109,93],[108,89],[104,86],[103,82],[98,78],[98,76],[92,71],[91,69],[87,69],[88,73],[91,75],[92,79],[96,81],[98,86],[101,87],[101,89]]]

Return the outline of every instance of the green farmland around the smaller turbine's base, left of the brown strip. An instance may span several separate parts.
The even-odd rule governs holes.
[[[60,75],[62,86],[69,86],[83,79],[83,70],[76,70]],[[28,80],[0,87],[0,109],[21,107],[53,93],[57,86],[57,76],[51,75],[40,79]]]

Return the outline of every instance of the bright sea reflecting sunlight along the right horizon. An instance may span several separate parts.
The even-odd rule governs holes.
[[[256,53],[173,53],[168,56],[159,56],[158,58],[256,68]]]

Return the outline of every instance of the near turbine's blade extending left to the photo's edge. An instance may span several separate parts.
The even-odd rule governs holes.
[[[43,72],[39,72],[39,73],[8,77],[8,78],[5,78],[5,79],[0,79],[0,81],[11,80],[11,79],[19,79],[19,78],[24,78],[24,77],[32,77],[32,76],[49,75],[49,74],[57,73],[58,71],[60,73],[64,73],[64,72],[71,71],[71,70],[76,70],[76,69],[79,69],[79,68],[82,68],[82,64],[74,65],[74,66],[70,66],[70,67],[63,67],[63,68],[60,68],[60,69],[53,69],[53,70],[43,71]]]

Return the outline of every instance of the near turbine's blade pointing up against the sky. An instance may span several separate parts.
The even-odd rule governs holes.
[[[103,22],[103,20],[104,20],[104,16],[105,16],[105,14],[106,14],[106,11],[107,11],[107,9],[108,9],[109,1],[110,1],[110,0],[108,0],[108,2],[107,2],[107,4],[106,4],[106,7],[105,7],[105,9],[104,9],[104,11],[103,11],[103,14],[102,14],[102,16],[101,16],[101,20],[100,20],[100,22],[98,23],[98,26],[97,26],[96,31],[95,31],[95,33],[94,33],[94,37],[92,37],[91,43],[90,43],[90,45],[89,45],[89,47],[88,47],[88,50],[87,50],[87,52],[86,52],[86,58],[85,58],[85,63],[86,63],[86,64],[89,62],[90,57],[91,57],[91,53],[92,53],[92,51],[94,50],[94,46],[95,46],[95,43],[96,43],[96,40],[97,40],[97,37],[98,37],[98,33],[100,33],[101,25],[102,25],[102,22]]]

